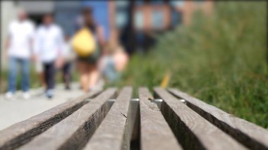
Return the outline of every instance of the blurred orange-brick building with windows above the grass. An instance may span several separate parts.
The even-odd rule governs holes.
[[[109,1],[109,30],[131,54],[155,43],[152,33],[190,25],[197,10],[212,12],[213,1],[136,0]]]

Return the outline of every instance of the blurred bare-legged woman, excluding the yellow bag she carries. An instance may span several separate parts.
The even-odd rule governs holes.
[[[92,16],[91,8],[83,9],[83,29],[87,29],[94,37],[97,45],[92,54],[80,56],[78,54],[78,70],[80,72],[80,85],[83,91],[88,92],[94,90],[99,80],[99,70],[97,69],[97,61],[101,55],[101,49],[104,47],[104,33],[102,27],[95,23]],[[78,31],[79,32],[81,31]],[[74,37],[75,38],[75,37]],[[89,41],[90,42],[90,41]]]

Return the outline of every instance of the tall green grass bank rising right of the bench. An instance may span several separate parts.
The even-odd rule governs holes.
[[[268,129],[267,2],[219,1],[211,16],[159,35],[147,55],[131,58],[116,86],[177,87]]]

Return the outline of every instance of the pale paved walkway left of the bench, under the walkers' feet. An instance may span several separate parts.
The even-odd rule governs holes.
[[[28,100],[21,99],[21,92],[16,93],[14,100],[6,100],[0,95],[0,130],[83,94],[78,84],[73,84],[69,91],[62,85],[57,86],[53,99],[47,99],[42,92],[42,89],[30,91],[32,97]]]

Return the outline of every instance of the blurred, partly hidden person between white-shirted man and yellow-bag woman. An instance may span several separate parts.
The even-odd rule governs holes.
[[[71,47],[71,39],[68,35],[65,37],[65,42],[63,44],[63,66],[62,66],[62,73],[63,73],[63,82],[65,85],[65,89],[71,89],[71,65],[73,60],[75,59],[75,54],[73,54],[73,49]]]

